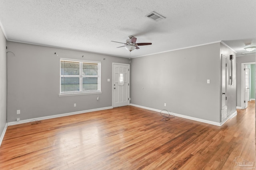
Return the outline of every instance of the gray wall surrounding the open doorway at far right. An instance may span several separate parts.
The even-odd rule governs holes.
[[[242,63],[252,63],[255,62],[256,60],[256,54],[252,54],[252,55],[245,55],[245,56],[240,56],[237,57],[236,59],[236,96],[237,96],[237,100],[236,100],[236,106],[238,107],[242,107]]]

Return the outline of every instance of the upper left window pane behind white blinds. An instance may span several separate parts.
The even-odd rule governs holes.
[[[79,62],[61,61],[60,68],[61,75],[79,75]]]

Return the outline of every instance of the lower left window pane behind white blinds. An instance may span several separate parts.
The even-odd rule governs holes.
[[[60,92],[79,92],[79,77],[62,77]]]

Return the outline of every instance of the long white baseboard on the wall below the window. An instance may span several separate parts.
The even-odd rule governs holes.
[[[13,122],[9,122],[9,123],[8,123],[8,126],[10,126],[10,125],[18,125],[18,124],[22,124],[22,123],[28,123],[28,122],[31,122],[31,121],[33,121],[33,120],[52,119],[52,118],[56,118],[56,117],[63,117],[63,116],[69,116],[69,115],[76,115],[76,114],[87,113],[87,112],[91,112],[91,111],[106,110],[106,109],[113,109],[113,107],[112,107],[112,106],[111,106],[111,107],[102,107],[102,108],[97,108],[97,109],[90,109],[90,110],[83,110],[83,111],[75,111],[75,112],[71,112],[71,113],[63,113],[63,114],[52,115],[52,116],[37,117],[37,118],[26,119],[26,120],[21,120],[21,121],[13,121]]]

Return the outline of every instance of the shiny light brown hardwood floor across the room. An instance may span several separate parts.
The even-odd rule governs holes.
[[[222,127],[161,119],[124,106],[9,126],[0,170],[240,170],[238,156],[255,165],[254,101]]]

